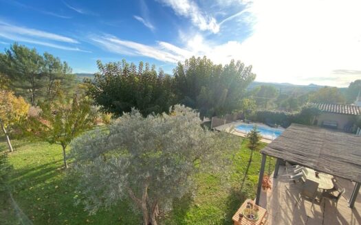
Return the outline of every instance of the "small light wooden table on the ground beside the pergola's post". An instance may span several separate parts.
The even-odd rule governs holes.
[[[256,204],[254,204],[253,200],[245,200],[245,202],[243,202],[243,204],[241,205],[241,207],[239,207],[239,209],[237,210],[237,212],[233,215],[232,217],[232,221],[234,225],[261,225],[261,224],[265,224],[266,220],[267,220],[267,210],[263,209],[261,206],[258,206],[258,215],[259,215],[259,220],[256,221],[251,221],[248,220],[246,217],[243,217],[242,220],[239,220],[239,213],[243,213],[243,209],[245,209],[245,206],[247,206],[247,202],[252,202],[252,204],[254,206],[258,206]]]

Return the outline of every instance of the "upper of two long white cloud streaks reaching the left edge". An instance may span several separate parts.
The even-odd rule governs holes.
[[[0,33],[32,36],[32,37],[37,37],[37,38],[45,38],[45,39],[50,39],[50,40],[61,41],[61,42],[65,42],[65,43],[78,43],[78,41],[74,40],[73,38],[68,38],[66,36],[61,36],[61,35],[53,34],[50,32],[43,32],[39,29],[19,27],[17,25],[11,25],[9,23],[5,23],[3,21],[0,21]]]

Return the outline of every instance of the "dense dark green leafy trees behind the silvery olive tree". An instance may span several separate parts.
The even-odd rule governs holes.
[[[144,67],[145,65],[145,67]],[[168,112],[175,104],[197,109],[201,117],[241,109],[246,87],[256,78],[252,67],[232,60],[222,66],[208,58],[179,62],[173,76],[148,63],[98,61],[98,73],[87,79],[87,94],[103,112],[122,115],[137,108],[142,115]]]

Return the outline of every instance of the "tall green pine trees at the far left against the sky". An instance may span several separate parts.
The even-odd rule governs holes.
[[[17,43],[0,54],[0,73],[10,88],[32,106],[44,99],[54,99],[59,91],[71,90],[76,80],[67,62]],[[69,93],[67,91],[64,93]]]

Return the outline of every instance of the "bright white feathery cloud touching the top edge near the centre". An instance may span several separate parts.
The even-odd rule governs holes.
[[[192,0],[158,0],[164,5],[171,7],[175,14],[178,16],[184,16],[192,21],[194,25],[199,27],[201,30],[209,30],[210,32],[216,34],[219,32],[219,24],[217,20],[201,12],[197,3]]]

